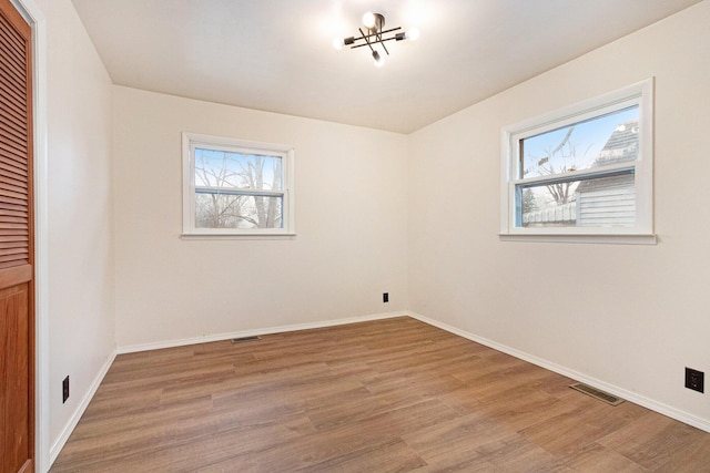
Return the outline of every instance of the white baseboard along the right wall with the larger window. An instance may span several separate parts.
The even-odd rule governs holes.
[[[422,316],[416,312],[407,311],[407,315],[414,319],[417,319],[422,322],[428,323],[434,327],[438,327],[442,330],[446,330],[447,332],[457,335],[459,337],[464,337],[468,340],[475,341],[480,345],[485,345],[486,347],[493,348],[494,350],[501,351],[504,353],[510,354],[513,357],[519,358],[520,360],[530,362],[532,364],[537,364],[538,367],[542,367],[547,370],[555,371],[556,373],[562,374],[567,378],[571,378],[576,381],[584,382],[586,384],[592,385],[602,391],[609,392],[619,398],[626,399],[629,402],[633,402],[635,404],[642,405],[643,408],[650,409],[651,411],[656,411],[660,414],[667,415],[671,419],[676,419],[677,421],[683,422],[688,425],[692,425],[697,429],[703,430],[706,432],[710,432],[710,421],[706,419],[698,418],[697,415],[690,414],[688,412],[676,409],[671,405],[665,404],[662,402],[658,402],[653,399],[646,398],[636,392],[628,391],[626,389],[619,388],[613,384],[609,384],[605,381],[598,380],[596,378],[589,377],[585,373],[580,373],[578,371],[571,370],[569,368],[562,367],[557,363],[552,363],[548,360],[544,360],[541,358],[535,357],[532,354],[516,350],[515,348],[506,347],[505,345],[500,345],[493,340],[488,340],[483,337],[478,337],[477,335],[467,332],[465,330],[457,329],[456,327],[449,326],[448,323],[439,322],[438,320],[430,319],[428,317]]]

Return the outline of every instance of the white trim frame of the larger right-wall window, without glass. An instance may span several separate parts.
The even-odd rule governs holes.
[[[633,227],[536,227],[515,226],[517,147],[521,138],[629,105],[639,105],[640,155],[631,163],[636,179],[636,226]],[[653,78],[608,94],[579,102],[501,130],[500,233],[503,241],[560,241],[656,244],[653,234]],[[629,163],[620,167],[628,168]],[[590,174],[576,172],[577,176]]]

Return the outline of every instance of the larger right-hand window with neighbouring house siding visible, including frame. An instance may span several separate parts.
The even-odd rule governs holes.
[[[652,80],[505,127],[503,239],[655,243],[652,161]]]

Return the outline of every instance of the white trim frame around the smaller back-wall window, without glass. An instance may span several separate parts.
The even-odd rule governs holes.
[[[192,150],[195,146],[207,148],[231,147],[246,152],[280,155],[284,169],[284,203],[282,228],[196,228],[195,227],[195,173]],[[197,133],[182,133],[182,238],[189,239],[230,239],[230,238],[270,238],[292,237],[294,225],[294,148],[290,145],[211,136]]]

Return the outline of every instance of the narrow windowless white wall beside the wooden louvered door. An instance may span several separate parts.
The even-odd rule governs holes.
[[[115,351],[112,84],[71,2],[38,4],[47,20],[49,114],[50,374],[42,394],[49,397],[49,442],[55,445]],[[65,376],[71,395],[62,404]]]

